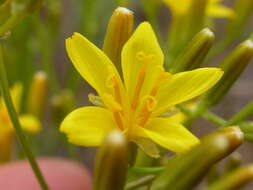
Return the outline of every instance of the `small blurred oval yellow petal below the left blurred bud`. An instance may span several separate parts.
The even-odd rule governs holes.
[[[19,116],[20,124],[24,130],[30,133],[38,133],[41,130],[40,121],[29,114]]]

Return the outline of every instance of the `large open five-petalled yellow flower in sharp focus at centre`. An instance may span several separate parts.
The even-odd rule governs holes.
[[[76,69],[105,105],[76,109],[64,119],[60,130],[71,143],[99,146],[114,129],[139,145],[149,139],[174,152],[199,142],[184,126],[161,115],[211,88],[222,76],[220,69],[165,72],[163,53],[147,22],[139,25],[123,47],[123,79],[110,59],[82,35],[68,38],[66,47]]]

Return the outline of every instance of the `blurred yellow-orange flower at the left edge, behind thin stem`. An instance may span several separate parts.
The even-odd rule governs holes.
[[[10,93],[14,106],[17,112],[19,112],[20,98],[22,94],[21,84],[15,84]],[[31,133],[37,133],[40,130],[40,122],[34,116],[21,114],[19,119],[24,130]],[[13,137],[14,128],[9,118],[4,100],[0,97],[0,162],[10,159]]]

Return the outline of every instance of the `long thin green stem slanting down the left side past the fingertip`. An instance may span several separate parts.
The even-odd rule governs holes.
[[[48,186],[42,176],[42,173],[41,173],[39,166],[35,160],[32,150],[27,142],[27,139],[26,139],[24,133],[23,133],[20,122],[18,120],[17,112],[14,108],[14,105],[13,105],[13,102],[12,102],[12,99],[10,96],[7,74],[6,74],[4,60],[3,60],[2,42],[0,42],[0,86],[1,86],[2,95],[3,95],[4,101],[5,101],[7,110],[9,112],[10,119],[13,123],[13,127],[16,131],[16,135],[17,135],[17,138],[21,144],[21,147],[30,162],[30,165],[33,169],[35,176],[37,177],[37,180],[41,186],[41,189],[48,190]]]

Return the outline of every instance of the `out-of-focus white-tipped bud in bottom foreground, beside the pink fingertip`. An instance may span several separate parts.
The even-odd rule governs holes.
[[[96,158],[94,190],[124,189],[127,149],[126,137],[120,131],[113,131],[106,137]]]

